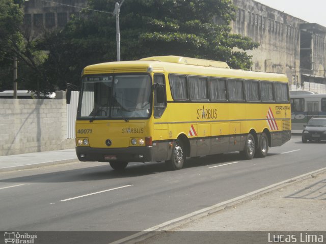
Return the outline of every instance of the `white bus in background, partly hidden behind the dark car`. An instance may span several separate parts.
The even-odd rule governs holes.
[[[326,94],[290,92],[292,130],[303,130],[311,117],[326,117]]]

